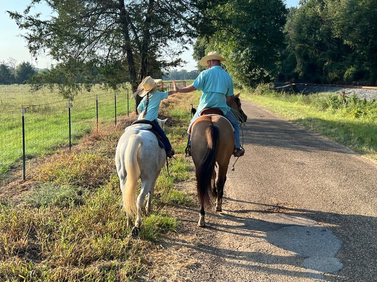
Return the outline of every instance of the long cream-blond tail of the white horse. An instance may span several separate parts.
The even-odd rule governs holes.
[[[140,177],[140,167],[137,162],[137,152],[141,144],[141,137],[131,135],[125,153],[125,167],[127,171],[126,183],[123,191],[123,206],[128,215],[137,213],[136,188]]]

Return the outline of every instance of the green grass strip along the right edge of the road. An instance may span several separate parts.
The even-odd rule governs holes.
[[[243,98],[377,161],[377,102],[334,93],[289,95],[260,86]],[[252,122],[252,121],[251,121]]]

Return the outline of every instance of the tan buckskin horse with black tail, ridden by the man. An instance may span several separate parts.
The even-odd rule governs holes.
[[[227,104],[240,122],[246,122],[247,115],[241,109],[240,93],[227,97]],[[192,123],[191,157],[195,165],[196,188],[200,203],[198,226],[205,226],[204,205],[216,197],[216,211],[221,211],[222,196],[230,157],[234,150],[234,129],[232,124],[219,114],[199,116]],[[218,165],[216,181],[215,166]],[[216,183],[215,183],[216,181]]]

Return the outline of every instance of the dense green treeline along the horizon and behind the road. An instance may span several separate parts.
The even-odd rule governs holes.
[[[267,2],[265,6],[261,4]],[[208,26],[201,27],[192,55],[198,61],[208,51],[218,51],[226,58],[223,65],[235,84],[377,84],[376,0],[300,0],[299,7],[289,9],[282,0],[260,3],[239,0],[228,4],[222,11],[221,1],[214,2],[214,7],[223,13],[221,17],[215,8],[201,11],[209,19],[203,23]],[[233,13],[240,9],[243,13]],[[198,66],[198,70],[189,72],[184,69],[167,72],[167,64],[153,61],[152,57],[145,75],[191,80],[203,70]],[[64,61],[62,66],[57,65],[55,70],[44,74],[39,72],[31,82],[37,85],[105,83],[115,88],[132,81],[127,72],[129,66],[122,61],[110,65],[98,64],[96,60],[72,62]],[[35,73],[28,62],[14,67],[2,63],[0,84],[24,84]]]

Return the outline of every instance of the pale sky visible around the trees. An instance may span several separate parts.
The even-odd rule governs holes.
[[[298,6],[299,0],[286,0],[287,7]],[[53,63],[48,56],[40,55],[35,61],[29,54],[25,39],[19,36],[21,31],[18,29],[6,11],[22,12],[31,0],[0,0],[0,63],[7,62],[9,58],[16,60],[16,65],[22,62],[30,62],[36,68],[49,68]],[[37,6],[33,12],[41,12],[48,15],[49,8],[43,5]],[[184,60],[188,64],[182,66],[183,69],[191,71],[196,69],[197,63],[192,58],[192,48],[183,54]]]

